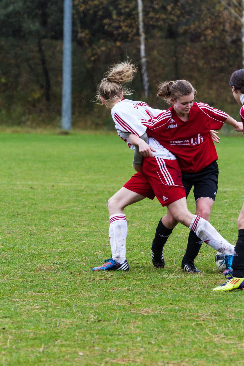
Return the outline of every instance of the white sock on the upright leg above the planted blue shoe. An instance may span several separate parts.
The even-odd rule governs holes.
[[[126,259],[126,237],[127,237],[127,220],[123,213],[117,213],[109,216],[109,240],[112,251],[112,259],[116,262],[124,263]]]

